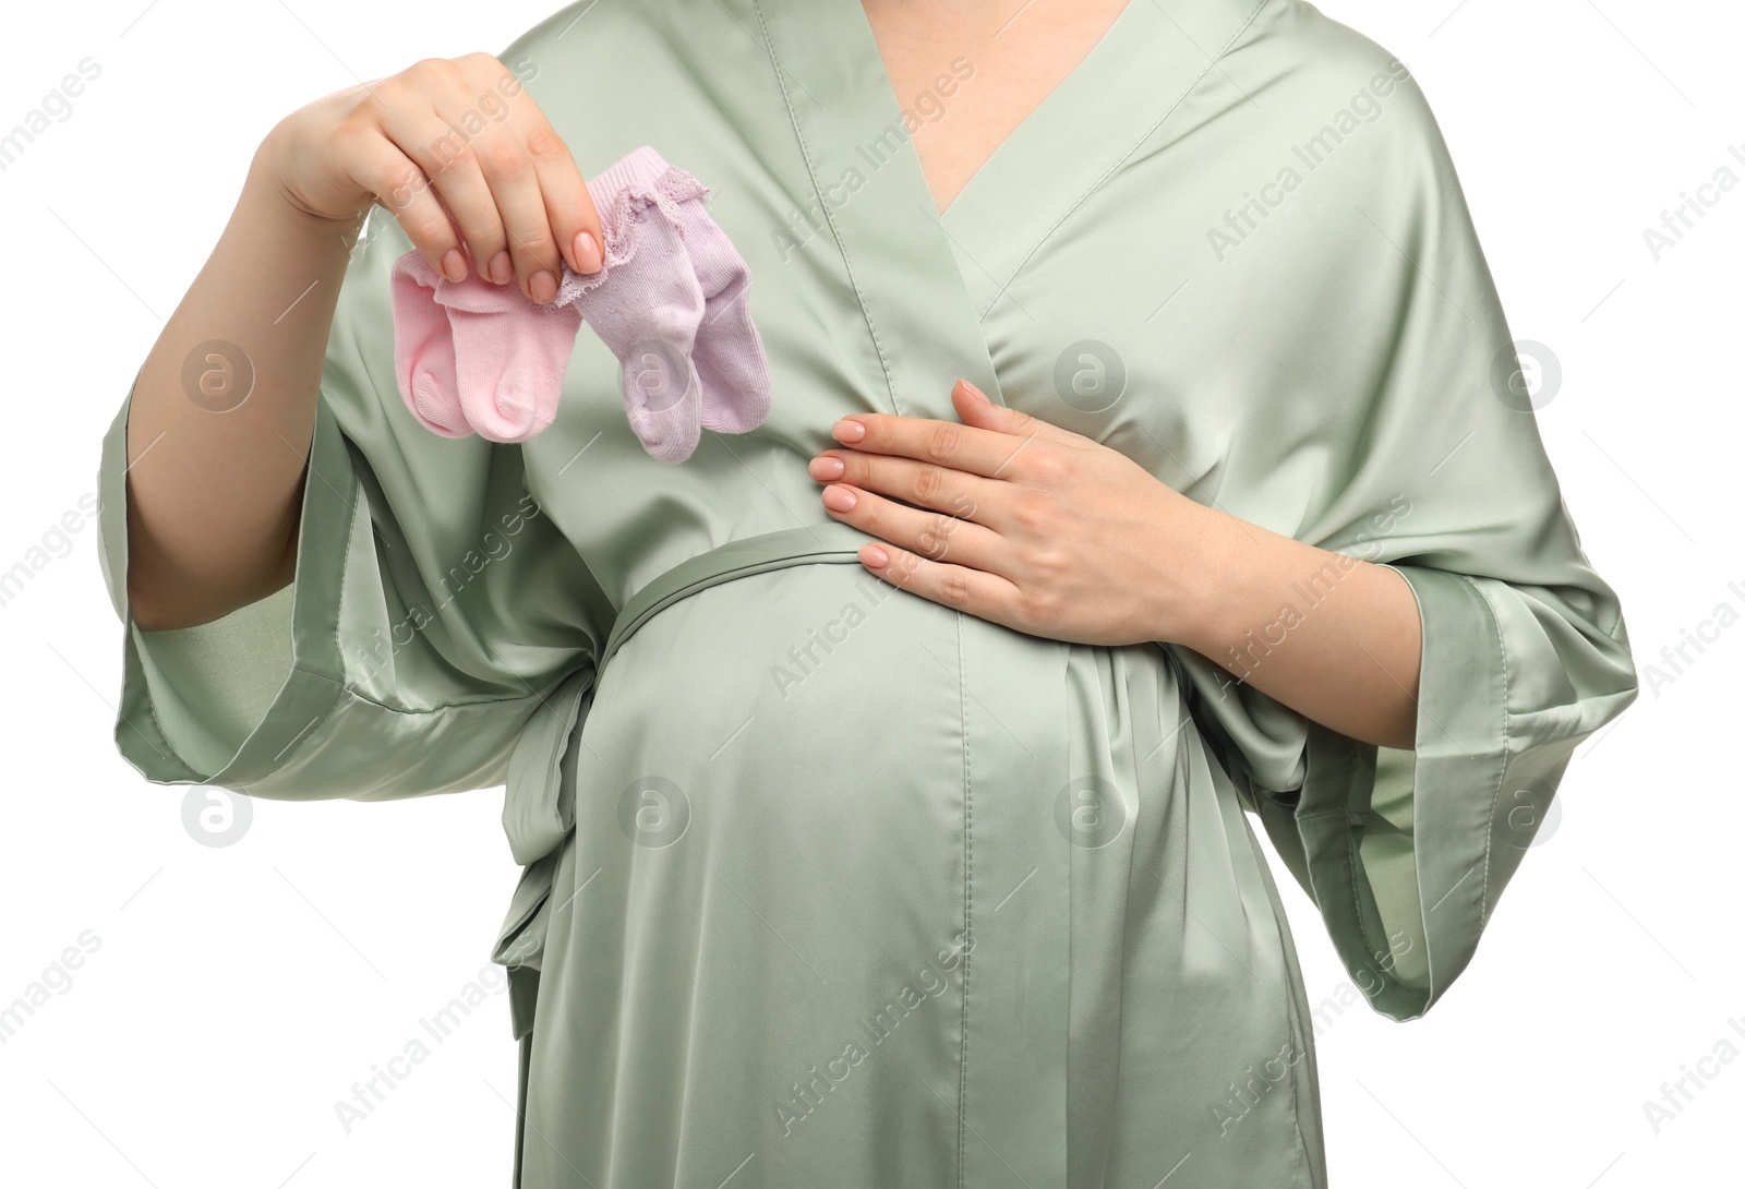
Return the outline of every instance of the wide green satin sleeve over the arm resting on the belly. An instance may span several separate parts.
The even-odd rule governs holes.
[[[1358,742],[1173,651],[1223,775],[1354,985],[1377,1013],[1415,1020],[1466,969],[1570,753],[1635,700],[1637,677],[1417,84],[1363,136],[1293,199],[1302,230],[1279,232],[1293,236],[1281,253],[1293,281],[1316,297],[1291,302],[1295,325],[1256,320],[1246,333],[1293,342],[1298,409],[1356,402],[1356,417],[1328,417],[1351,440],[1310,443],[1333,461],[1321,491],[1298,498],[1302,522],[1269,527],[1410,585],[1424,641],[1413,747]],[[1255,663],[1340,576],[1335,562],[1298,585],[1249,641]]]

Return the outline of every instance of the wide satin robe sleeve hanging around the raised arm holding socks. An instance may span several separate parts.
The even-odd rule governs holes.
[[[389,269],[372,210],[337,299],[293,581],[211,623],[141,632],[127,601],[127,410],[99,463],[99,564],[124,625],[115,746],[154,784],[274,800],[394,800],[503,784],[607,613],[534,499],[515,443],[441,438],[394,379]],[[138,377],[136,381],[138,382]],[[551,702],[551,705],[548,705]]]

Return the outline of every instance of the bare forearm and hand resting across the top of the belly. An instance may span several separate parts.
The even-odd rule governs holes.
[[[831,430],[845,449],[811,459],[831,515],[881,541],[862,566],[1031,636],[1183,644],[1324,726],[1413,747],[1422,625],[1398,571],[1197,505],[967,381],[951,403],[963,424],[853,414]],[[1335,592],[1290,625],[1290,646],[1246,663],[1242,643],[1328,573]]]

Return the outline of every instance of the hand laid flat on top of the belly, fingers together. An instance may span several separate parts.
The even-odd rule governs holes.
[[[845,447],[811,459],[831,515],[881,540],[860,550],[867,569],[1031,636],[1199,639],[1230,517],[968,381],[951,402],[963,424],[845,417],[831,430]]]

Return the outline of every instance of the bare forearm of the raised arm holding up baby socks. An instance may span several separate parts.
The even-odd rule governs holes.
[[[342,225],[250,169],[147,354],[127,416],[127,592],[143,630],[215,620],[290,580]]]

